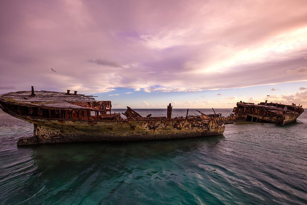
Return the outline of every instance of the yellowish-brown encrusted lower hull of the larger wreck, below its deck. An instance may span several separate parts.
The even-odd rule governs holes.
[[[34,135],[17,145],[59,142],[165,140],[223,134],[225,127],[204,120],[60,121],[33,120]]]

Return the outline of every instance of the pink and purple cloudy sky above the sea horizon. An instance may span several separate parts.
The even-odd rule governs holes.
[[[0,93],[31,86],[112,108],[306,108],[306,2],[2,1]]]

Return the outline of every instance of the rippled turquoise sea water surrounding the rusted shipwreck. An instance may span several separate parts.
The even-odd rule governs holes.
[[[220,136],[17,147],[32,131],[0,111],[0,204],[307,203],[307,112],[286,126],[227,124]]]

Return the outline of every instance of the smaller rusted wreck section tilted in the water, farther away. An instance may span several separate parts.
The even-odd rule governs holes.
[[[302,105],[286,105],[278,103],[261,102],[259,104],[237,102],[233,108],[236,115],[246,116],[246,121],[271,122],[276,124],[290,124],[304,112]]]

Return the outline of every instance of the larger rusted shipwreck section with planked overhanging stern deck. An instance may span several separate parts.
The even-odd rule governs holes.
[[[20,138],[17,145],[58,142],[162,140],[223,134],[222,122],[210,116],[172,118],[141,116],[127,107],[125,113],[111,113],[111,101],[93,96],[52,91],[11,92],[0,95],[0,108],[33,123],[33,136]]]

